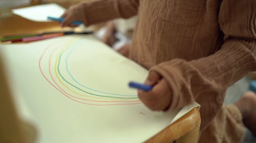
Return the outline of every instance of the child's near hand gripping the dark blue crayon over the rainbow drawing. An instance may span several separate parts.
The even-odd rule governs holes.
[[[154,85],[151,91],[138,90],[140,100],[152,110],[166,110],[172,100],[172,90],[168,82],[157,72],[151,71],[144,84]]]

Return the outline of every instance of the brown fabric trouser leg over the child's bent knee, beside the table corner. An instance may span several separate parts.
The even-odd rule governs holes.
[[[234,104],[223,106],[206,129],[201,132],[199,142],[241,143],[245,128],[242,114]]]

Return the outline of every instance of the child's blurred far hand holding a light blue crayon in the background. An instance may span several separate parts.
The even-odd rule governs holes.
[[[61,23],[61,27],[76,27],[77,25],[71,24],[72,21],[83,21],[82,16],[76,13],[79,9],[79,5],[75,5],[71,6],[65,13],[63,13],[60,17],[65,18],[65,20]]]

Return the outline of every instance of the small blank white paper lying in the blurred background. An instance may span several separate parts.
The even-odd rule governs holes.
[[[47,19],[47,16],[60,17],[65,12],[65,10],[65,8],[57,4],[45,4],[14,9],[12,12],[32,21],[44,22],[50,21]]]

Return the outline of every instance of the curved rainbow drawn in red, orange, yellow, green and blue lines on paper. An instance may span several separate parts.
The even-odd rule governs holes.
[[[137,95],[110,93],[90,88],[79,82],[70,71],[70,55],[77,47],[73,38],[67,42],[54,42],[41,54],[38,67],[42,76],[59,91],[72,101],[87,105],[133,105],[140,104]],[[77,67],[79,69],[79,67]],[[90,68],[88,68],[90,70]]]

